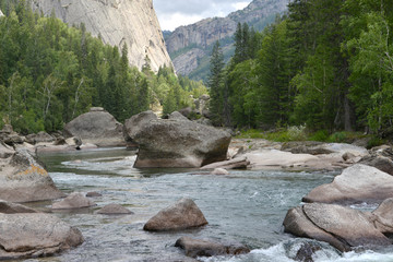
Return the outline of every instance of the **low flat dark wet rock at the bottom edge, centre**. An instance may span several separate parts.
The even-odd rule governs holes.
[[[236,242],[221,243],[211,240],[193,239],[190,237],[179,238],[176,241],[175,247],[183,249],[186,255],[191,258],[227,255],[227,254],[236,255],[236,254],[243,254],[250,252],[250,249],[248,249],[241,243],[236,243]]]

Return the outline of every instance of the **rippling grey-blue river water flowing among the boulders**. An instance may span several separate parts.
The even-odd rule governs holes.
[[[237,241],[249,254],[200,259],[205,262],[289,262],[306,239],[284,234],[288,209],[314,187],[332,181],[334,172],[231,170],[212,176],[196,169],[135,169],[134,152],[102,148],[41,154],[39,158],[66,193],[96,191],[96,206],[53,213],[78,227],[85,242],[57,257],[27,261],[195,261],[174,245],[181,236]],[[191,198],[209,225],[178,233],[147,233],[143,225],[159,210],[181,198]],[[108,216],[95,212],[109,203],[128,207],[133,215]],[[51,202],[32,204],[49,212]],[[376,206],[360,206],[372,210]],[[340,254],[323,245],[317,262],[393,261],[393,249]]]

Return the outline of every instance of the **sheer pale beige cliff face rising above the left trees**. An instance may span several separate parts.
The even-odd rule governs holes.
[[[146,56],[153,71],[171,66],[153,0],[32,0],[32,7],[45,15],[55,11],[69,25],[84,23],[93,36],[119,50],[126,43],[131,66],[141,69]]]

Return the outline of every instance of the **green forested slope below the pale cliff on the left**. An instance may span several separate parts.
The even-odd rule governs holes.
[[[130,68],[127,45],[104,45],[83,24],[68,27],[24,0],[1,1],[0,9],[0,129],[11,123],[22,133],[51,132],[92,106],[123,121],[148,108],[189,106],[191,94],[206,92],[172,69],[154,74],[148,59],[142,72]]]

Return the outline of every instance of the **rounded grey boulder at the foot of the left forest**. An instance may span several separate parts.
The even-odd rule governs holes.
[[[98,146],[124,146],[122,124],[103,108],[92,108],[64,127],[67,138],[81,138],[83,143]]]

